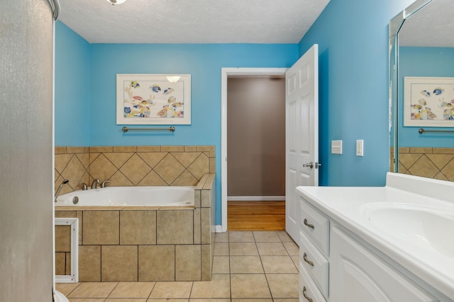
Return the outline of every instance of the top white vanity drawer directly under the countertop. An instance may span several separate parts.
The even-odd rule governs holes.
[[[309,237],[324,255],[329,255],[329,220],[312,207],[304,198],[299,197],[299,229]]]

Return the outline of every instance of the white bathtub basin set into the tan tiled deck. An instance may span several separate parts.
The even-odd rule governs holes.
[[[103,187],[57,197],[55,206],[194,206],[194,187]]]

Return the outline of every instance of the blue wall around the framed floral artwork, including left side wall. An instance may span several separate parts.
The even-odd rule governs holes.
[[[75,44],[86,50],[86,42],[68,32],[72,30],[57,23],[55,42],[60,59],[55,77],[84,92],[87,89],[89,95],[67,93],[70,85],[55,87],[55,129],[59,129],[55,146],[214,145],[216,224],[221,224],[221,68],[286,68],[297,61],[298,45],[92,44],[87,46],[89,56],[76,57],[70,49]],[[60,35],[65,37],[59,39]],[[70,70],[84,76],[73,76]],[[174,134],[123,134],[123,125],[116,125],[116,74],[191,74],[192,124],[176,125]],[[79,105],[84,110],[78,110]],[[67,114],[74,115],[75,122],[65,120]],[[77,127],[81,129],[73,129]],[[80,138],[80,132],[88,141]]]

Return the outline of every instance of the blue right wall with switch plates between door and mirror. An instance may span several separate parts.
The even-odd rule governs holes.
[[[321,185],[384,185],[389,170],[388,23],[413,0],[331,0],[299,42],[319,44]],[[331,141],[343,140],[343,154]],[[355,155],[364,139],[364,156]]]

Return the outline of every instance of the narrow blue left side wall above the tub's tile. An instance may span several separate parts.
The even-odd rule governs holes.
[[[89,146],[91,46],[66,25],[55,30],[55,146]]]

